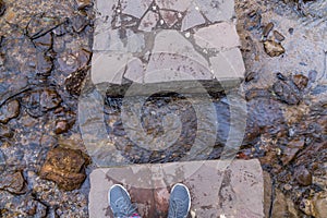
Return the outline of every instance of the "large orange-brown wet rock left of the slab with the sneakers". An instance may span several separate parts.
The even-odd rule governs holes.
[[[48,153],[40,177],[56,182],[65,191],[75,190],[86,178],[86,157],[81,150],[56,147]]]

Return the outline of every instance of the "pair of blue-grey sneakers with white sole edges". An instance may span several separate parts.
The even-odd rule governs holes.
[[[141,218],[129,192],[122,185],[114,184],[110,187],[108,201],[114,218]],[[168,218],[186,218],[190,207],[189,189],[184,184],[175,184],[170,193]]]

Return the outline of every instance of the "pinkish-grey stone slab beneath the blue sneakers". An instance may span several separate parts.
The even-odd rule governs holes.
[[[169,193],[181,182],[190,189],[191,215],[264,217],[264,179],[258,160],[235,160],[223,172],[220,160],[100,168],[90,174],[89,217],[112,217],[108,190],[124,185],[144,218],[167,217]]]

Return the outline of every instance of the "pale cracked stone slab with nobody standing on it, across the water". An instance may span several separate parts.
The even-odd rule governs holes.
[[[96,0],[96,10],[92,81],[123,87],[108,94],[190,81],[221,92],[244,76],[232,0]]]

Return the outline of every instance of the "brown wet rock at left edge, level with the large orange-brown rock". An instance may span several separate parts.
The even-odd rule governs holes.
[[[5,190],[13,194],[24,194],[25,180],[21,171],[15,173],[9,173],[1,175],[0,178],[0,190]]]

